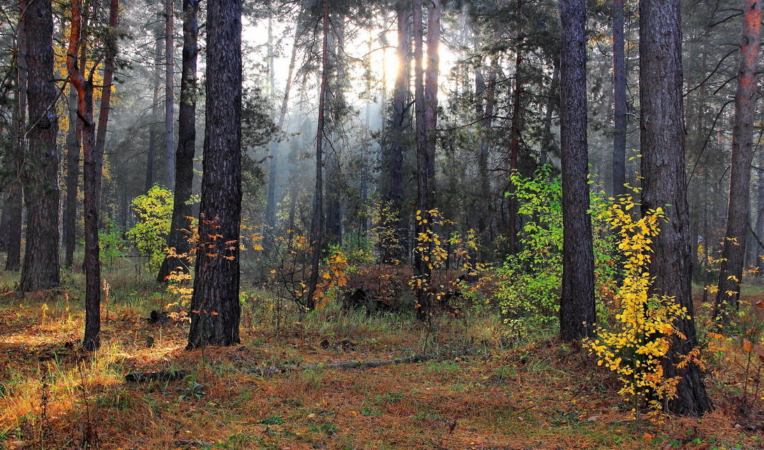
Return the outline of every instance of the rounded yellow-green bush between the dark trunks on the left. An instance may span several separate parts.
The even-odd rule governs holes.
[[[138,222],[128,231],[128,239],[149,256],[148,266],[157,270],[167,255],[167,234],[173,218],[173,193],[154,185],[132,201]]]

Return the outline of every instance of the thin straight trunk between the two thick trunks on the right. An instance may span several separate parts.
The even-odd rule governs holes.
[[[623,0],[613,0],[613,196],[626,194],[626,57],[623,47]]]

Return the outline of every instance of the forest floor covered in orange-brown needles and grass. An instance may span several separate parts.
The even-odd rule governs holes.
[[[22,298],[8,284],[0,295],[0,448],[764,448],[760,405],[739,408],[743,392],[760,395],[758,362],[743,385],[748,359],[733,344],[717,351],[725,369],[706,378],[713,413],[651,422],[631,416],[616,378],[591,358],[552,337],[507,339],[495,315],[441,317],[427,332],[406,315],[325,307],[276,333],[267,301],[251,294],[241,346],[186,352],[186,325],[146,320],[167,296],[115,278],[94,355],[77,349],[80,292]],[[246,373],[422,353],[443,356]],[[125,381],[165,369],[189,375]]]

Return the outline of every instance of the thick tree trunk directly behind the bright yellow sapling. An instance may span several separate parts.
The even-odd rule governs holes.
[[[679,377],[677,397],[668,407],[673,413],[699,416],[711,410],[701,369],[694,364],[676,367],[682,355],[698,346],[691,295],[679,0],[639,2],[639,86],[642,207],[661,207],[667,219],[652,245],[652,293],[675,297],[689,315],[675,323],[684,336],[672,337],[663,365],[665,378]]]

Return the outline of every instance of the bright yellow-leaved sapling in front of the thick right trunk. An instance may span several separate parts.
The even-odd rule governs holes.
[[[601,211],[625,258],[623,281],[615,298],[619,309],[614,323],[599,324],[597,337],[584,341],[584,346],[597,357],[598,365],[617,374],[622,384],[619,394],[630,400],[635,416],[642,407],[656,416],[665,402],[676,395],[679,379],[667,378],[663,365],[673,336],[685,339],[675,322],[687,318],[688,312],[674,297],[649,292],[652,238],[660,231],[663,211],[661,208],[646,211],[635,220],[630,214],[635,206],[632,198],[626,197]],[[698,349],[694,349],[679,364],[698,362]]]

